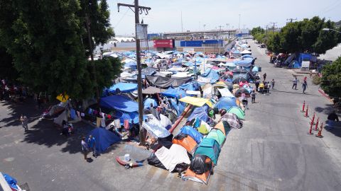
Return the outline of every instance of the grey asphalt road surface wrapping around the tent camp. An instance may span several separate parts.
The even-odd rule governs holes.
[[[134,144],[114,145],[86,163],[78,137],[61,137],[52,122],[38,120],[38,110],[30,104],[1,103],[1,172],[28,183],[31,190],[340,190],[341,131],[323,129],[323,139],[310,136],[308,119],[299,111],[305,100],[325,120],[330,102],[310,79],[307,94],[301,86],[292,90],[293,71],[274,68],[264,49],[251,40],[249,44],[261,74],[275,79],[275,90],[257,95],[244,127],[228,134],[208,185],[148,165],[124,169],[116,163],[117,155],[143,159],[149,154]],[[21,112],[31,119],[30,132],[23,132],[18,122]]]

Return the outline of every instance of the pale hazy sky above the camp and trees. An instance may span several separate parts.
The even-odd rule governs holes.
[[[133,35],[134,12],[117,3],[134,4],[134,0],[107,0],[110,21],[116,35]],[[265,28],[269,23],[277,27],[286,25],[288,18],[320,16],[331,21],[341,20],[341,0],[140,0],[140,6],[151,7],[148,15],[140,15],[148,24],[148,33],[183,31]]]

